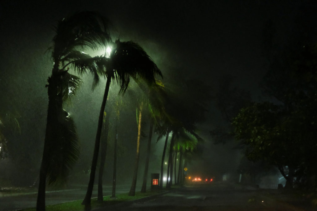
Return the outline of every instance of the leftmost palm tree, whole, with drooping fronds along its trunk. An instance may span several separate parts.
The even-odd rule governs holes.
[[[36,210],[45,210],[45,186],[61,181],[79,156],[76,128],[70,115],[63,110],[63,102],[74,96],[80,78],[71,75],[90,71],[96,81],[99,73],[96,59],[84,53],[84,48],[99,49],[109,36],[106,21],[94,12],[78,12],[57,22],[52,50],[53,69],[48,78],[49,106],[44,150],[39,176]]]

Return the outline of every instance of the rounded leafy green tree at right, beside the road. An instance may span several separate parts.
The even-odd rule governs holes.
[[[247,158],[277,166],[290,188],[295,175],[303,177],[301,169],[312,169],[308,160],[317,155],[312,150],[316,148],[315,132],[309,131],[313,124],[306,121],[306,115],[302,110],[288,112],[282,105],[263,102],[241,109],[233,121],[236,139],[247,146]]]

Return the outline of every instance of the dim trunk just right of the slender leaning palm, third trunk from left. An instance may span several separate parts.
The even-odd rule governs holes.
[[[107,154],[107,145],[108,145],[108,133],[109,133],[109,120],[110,120],[110,112],[106,114],[105,121],[105,134],[104,139],[101,140],[101,156],[100,156],[100,167],[99,167],[99,175],[98,175],[98,202],[103,201],[103,192],[102,192],[102,176],[106,162],[106,154]]]

